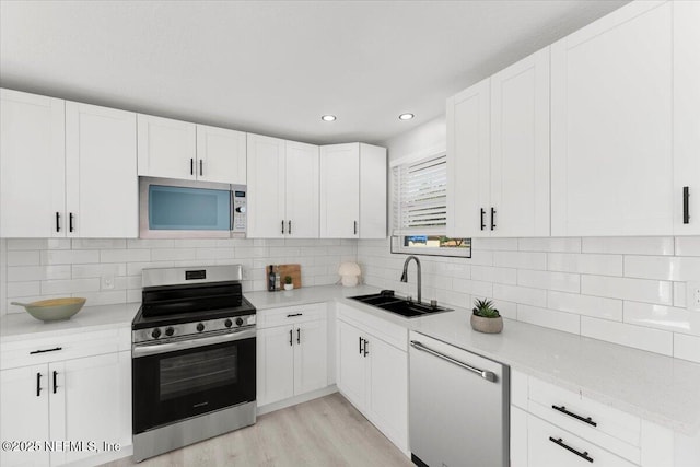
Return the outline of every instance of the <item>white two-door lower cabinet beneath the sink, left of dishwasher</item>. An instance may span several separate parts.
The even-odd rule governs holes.
[[[342,304],[338,310],[338,388],[408,454],[407,330]]]

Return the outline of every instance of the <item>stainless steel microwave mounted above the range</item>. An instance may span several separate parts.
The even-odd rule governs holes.
[[[246,186],[139,177],[141,238],[246,235]]]

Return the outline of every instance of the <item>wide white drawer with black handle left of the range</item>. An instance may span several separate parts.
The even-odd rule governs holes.
[[[0,370],[118,352],[131,348],[130,329],[44,337],[0,346]]]

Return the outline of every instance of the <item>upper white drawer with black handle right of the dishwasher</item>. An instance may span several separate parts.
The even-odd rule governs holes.
[[[529,378],[528,411],[633,462],[640,462],[641,420],[576,393]]]

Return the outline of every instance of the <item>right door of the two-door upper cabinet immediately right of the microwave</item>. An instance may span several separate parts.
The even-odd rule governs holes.
[[[318,238],[318,147],[287,141],[287,235]]]

